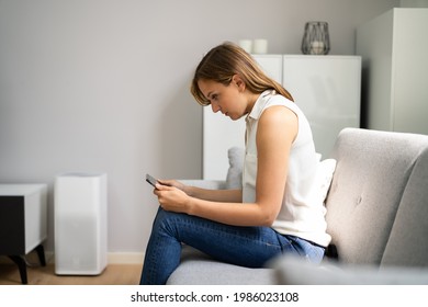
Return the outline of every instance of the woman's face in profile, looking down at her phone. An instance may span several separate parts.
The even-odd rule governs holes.
[[[233,121],[243,117],[247,113],[248,105],[244,94],[244,82],[238,77],[235,77],[237,76],[234,76],[228,86],[205,79],[198,81],[198,87],[210,101],[213,112],[217,113],[219,111]]]

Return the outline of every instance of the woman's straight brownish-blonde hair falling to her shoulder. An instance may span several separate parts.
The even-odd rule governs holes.
[[[212,48],[202,58],[194,72],[190,91],[201,105],[209,105],[210,101],[201,92],[198,81],[212,80],[227,87],[235,75],[244,80],[246,88],[252,93],[272,89],[293,101],[289,91],[269,78],[248,53],[229,42]]]

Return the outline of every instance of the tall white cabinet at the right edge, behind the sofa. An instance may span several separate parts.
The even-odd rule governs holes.
[[[428,134],[428,9],[393,9],[357,29],[363,126]]]

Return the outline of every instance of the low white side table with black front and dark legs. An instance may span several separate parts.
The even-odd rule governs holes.
[[[42,242],[47,237],[47,185],[0,184],[0,254],[18,264],[27,284],[24,257],[36,250],[46,265]]]

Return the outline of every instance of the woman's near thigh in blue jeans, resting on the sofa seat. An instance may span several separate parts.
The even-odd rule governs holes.
[[[157,219],[177,240],[228,263],[260,268],[281,253],[299,254],[290,240],[270,227],[230,226],[165,211]]]

